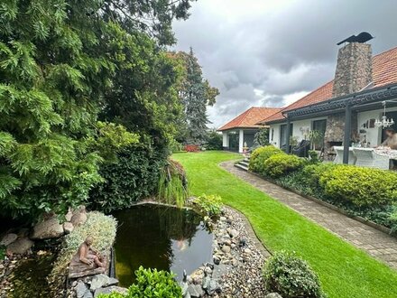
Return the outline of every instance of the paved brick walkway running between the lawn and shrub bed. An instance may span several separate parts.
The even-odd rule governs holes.
[[[315,201],[284,190],[282,187],[267,182],[252,173],[239,170],[234,166],[234,162],[221,163],[220,166],[272,198],[282,201],[292,210],[317,222],[320,226],[327,228],[355,247],[365,250],[369,255],[397,269],[397,238],[355,219],[350,219],[337,211],[330,210]]]

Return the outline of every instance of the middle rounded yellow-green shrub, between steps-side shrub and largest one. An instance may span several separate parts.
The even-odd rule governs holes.
[[[263,174],[272,178],[299,170],[305,161],[296,155],[274,154],[263,164]]]

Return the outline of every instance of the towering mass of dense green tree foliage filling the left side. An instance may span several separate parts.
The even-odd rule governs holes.
[[[119,157],[134,160],[126,146],[143,148],[156,171],[152,152],[165,159],[183,118],[183,63],[162,45],[175,41],[171,22],[189,16],[190,2],[0,4],[2,212],[65,213],[87,202],[94,185],[112,189],[109,163],[117,172],[122,151]],[[125,179],[143,184],[149,175],[139,173]],[[105,197],[95,203],[106,208]]]

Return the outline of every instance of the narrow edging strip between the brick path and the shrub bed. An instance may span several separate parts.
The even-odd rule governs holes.
[[[236,168],[239,169],[240,171],[245,171],[245,170],[240,169],[238,167],[236,167]],[[267,182],[270,182],[270,183],[272,183],[274,185],[277,185],[277,186],[281,187],[282,189],[284,189],[286,191],[291,191],[291,192],[293,192],[295,194],[300,195],[301,197],[303,197],[305,199],[312,200],[312,201],[314,201],[316,203],[319,203],[320,205],[322,205],[324,207],[327,207],[330,210],[337,211],[338,213],[343,214],[343,215],[345,215],[346,217],[348,217],[350,219],[355,219],[355,220],[357,220],[357,221],[359,221],[359,222],[361,222],[361,223],[363,223],[363,224],[365,224],[365,225],[367,225],[367,226],[369,226],[371,228],[375,228],[375,229],[377,229],[377,230],[379,230],[379,231],[381,231],[381,232],[383,232],[385,234],[388,234],[388,235],[390,235],[392,237],[397,237],[397,233],[396,232],[392,232],[391,228],[386,228],[386,227],[384,227],[382,225],[379,225],[379,224],[375,223],[374,221],[371,221],[371,220],[368,220],[368,219],[364,219],[364,218],[362,218],[360,216],[349,214],[347,211],[345,211],[343,209],[340,209],[337,206],[332,205],[332,204],[330,204],[330,203],[328,203],[328,202],[326,202],[324,200],[319,200],[318,198],[315,198],[315,197],[309,196],[309,195],[307,195],[305,193],[302,193],[300,191],[291,189],[290,187],[283,186],[283,185],[275,182],[274,180],[272,180],[270,178],[265,178],[265,177],[261,176],[260,174],[258,174],[256,172],[252,172],[252,171],[249,171],[249,170],[246,171],[246,172],[249,172],[249,173],[253,174],[256,177],[261,178],[264,181],[267,181]]]

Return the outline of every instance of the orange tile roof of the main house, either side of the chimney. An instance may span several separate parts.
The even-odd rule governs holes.
[[[381,87],[393,83],[397,83],[397,47],[389,51],[384,51],[373,57],[373,77],[374,87]],[[321,101],[332,98],[332,88],[334,81],[331,80],[327,84],[317,88],[307,96],[300,98],[290,106],[282,108],[279,112],[263,118],[260,123],[270,123],[272,121],[282,120],[282,112],[306,107],[319,103]]]

